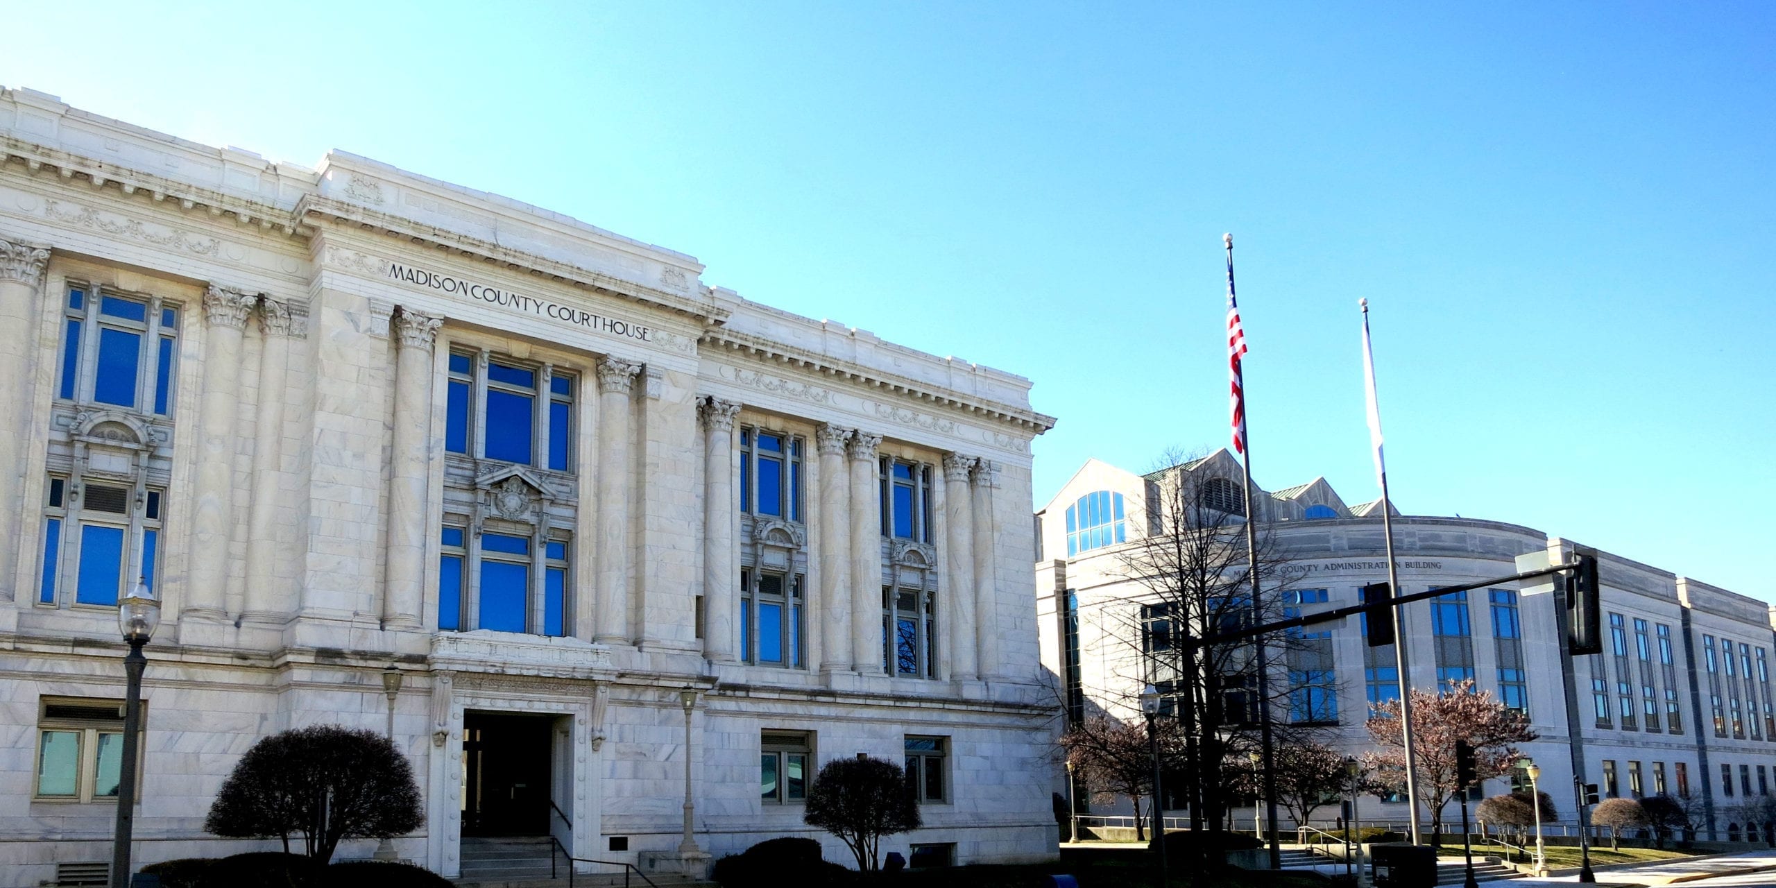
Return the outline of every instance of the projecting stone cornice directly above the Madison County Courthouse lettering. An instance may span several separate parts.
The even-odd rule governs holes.
[[[433,249],[446,250],[453,258],[481,259],[508,272],[529,272],[533,277],[558,284],[584,286],[599,293],[684,314],[703,323],[719,325],[728,320],[728,309],[716,305],[714,302],[689,298],[680,293],[652,288],[613,274],[581,268],[577,265],[515,250],[511,247],[501,247],[499,243],[490,243],[471,234],[426,226],[423,222],[414,222],[412,218],[378,210],[366,210],[362,206],[334,201],[332,197],[318,194],[305,194],[300,201],[297,201],[297,218],[300,218],[304,226],[316,231],[323,226],[350,226],[362,231],[380,231],[389,236],[403,238],[408,243],[432,245]]]

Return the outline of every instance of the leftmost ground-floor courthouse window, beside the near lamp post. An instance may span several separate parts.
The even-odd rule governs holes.
[[[121,700],[39,698],[34,790],[37,799],[117,797],[123,778],[123,707]],[[142,703],[142,725],[146,730],[146,703]]]

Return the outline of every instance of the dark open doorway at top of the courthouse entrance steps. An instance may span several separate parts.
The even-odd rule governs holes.
[[[549,716],[462,716],[462,835],[549,835]]]

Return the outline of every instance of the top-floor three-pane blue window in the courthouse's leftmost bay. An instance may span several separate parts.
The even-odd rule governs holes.
[[[169,416],[179,309],[75,286],[62,318],[59,398]]]

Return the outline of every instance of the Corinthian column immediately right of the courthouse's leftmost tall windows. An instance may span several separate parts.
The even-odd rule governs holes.
[[[240,337],[258,297],[210,284],[204,291],[204,394],[197,414],[197,478],[192,483],[192,570],[185,613],[224,616],[227,542],[234,529],[234,405]]]

